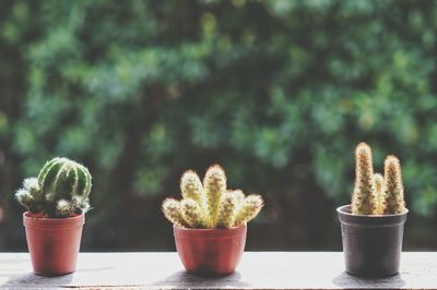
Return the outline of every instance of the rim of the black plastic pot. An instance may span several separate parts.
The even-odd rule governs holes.
[[[343,205],[336,208],[336,213],[344,225],[378,228],[404,223],[409,209],[405,208],[403,213],[392,215],[354,215],[351,213],[351,205]]]

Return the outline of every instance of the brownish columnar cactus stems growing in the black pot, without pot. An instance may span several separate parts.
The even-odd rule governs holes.
[[[401,164],[389,155],[383,176],[374,173],[370,146],[362,142],[355,149],[355,188],[352,213],[355,215],[392,215],[405,210]]]

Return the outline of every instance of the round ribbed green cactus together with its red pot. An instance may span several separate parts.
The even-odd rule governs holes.
[[[16,191],[16,200],[27,209],[23,223],[35,274],[74,271],[91,186],[84,166],[54,158]]]

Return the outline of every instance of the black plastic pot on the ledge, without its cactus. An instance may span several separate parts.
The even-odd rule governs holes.
[[[387,277],[399,273],[403,214],[353,215],[351,206],[336,208],[342,229],[346,271],[361,277]]]

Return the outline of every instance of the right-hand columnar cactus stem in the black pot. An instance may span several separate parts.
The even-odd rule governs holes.
[[[383,162],[385,174],[385,214],[401,214],[405,210],[401,162],[393,156],[387,156]]]

